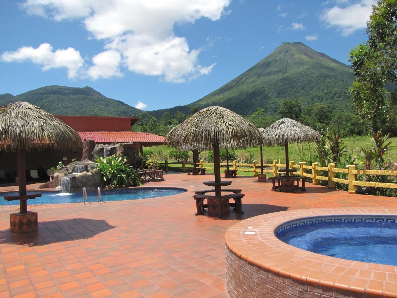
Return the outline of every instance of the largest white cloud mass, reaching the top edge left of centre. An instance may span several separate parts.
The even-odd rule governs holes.
[[[21,8],[54,21],[81,19],[91,37],[103,40],[106,51],[94,56],[88,69],[93,79],[121,75],[115,65],[119,52],[119,65],[130,71],[183,82],[212,67],[198,64],[200,49],[190,49],[185,37],[175,36],[174,25],[202,17],[219,20],[230,1],[26,0]]]

